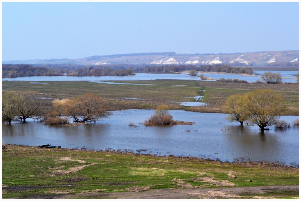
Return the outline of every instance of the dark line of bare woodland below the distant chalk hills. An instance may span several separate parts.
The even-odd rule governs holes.
[[[228,64],[192,65],[192,64],[2,64],[2,78],[31,76],[127,76],[135,72],[148,73],[179,73],[182,71],[225,72],[252,74],[250,67],[237,67]]]

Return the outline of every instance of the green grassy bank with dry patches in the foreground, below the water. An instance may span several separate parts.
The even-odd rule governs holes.
[[[85,198],[89,193],[181,187],[299,185],[299,168],[276,164],[230,164],[118,151],[6,147],[2,150],[2,198],[59,198],[64,195]],[[237,178],[232,178],[234,175]],[[299,197],[299,192],[275,194]]]

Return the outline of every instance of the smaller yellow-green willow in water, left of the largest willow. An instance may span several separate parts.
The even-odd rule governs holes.
[[[242,126],[243,122],[247,119],[247,115],[242,107],[243,101],[241,99],[242,96],[240,95],[229,96],[223,106],[223,111],[229,114],[227,117],[229,121],[238,121]]]

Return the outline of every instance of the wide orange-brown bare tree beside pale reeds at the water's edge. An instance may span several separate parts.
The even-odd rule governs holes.
[[[65,101],[65,108],[67,115],[70,115],[75,123],[95,122],[110,115],[101,96],[92,93]]]

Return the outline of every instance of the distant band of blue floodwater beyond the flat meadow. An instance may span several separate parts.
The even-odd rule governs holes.
[[[256,71],[256,73],[262,74],[266,71]],[[283,82],[296,82],[297,71],[271,71],[272,73],[279,72],[283,78]],[[215,81],[220,78],[231,78],[246,80],[247,82],[256,82],[261,80],[260,75],[242,76],[238,74],[220,74],[220,73],[204,73],[204,77],[212,78]],[[16,78],[2,78],[2,81],[116,81],[116,80],[162,80],[162,79],[175,79],[175,80],[201,80],[200,77],[190,76],[187,73],[181,74],[154,74],[154,73],[136,73],[133,76],[99,76],[99,77],[77,77],[77,76],[33,76],[33,77],[16,77]]]

